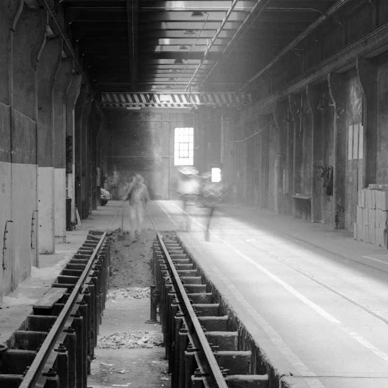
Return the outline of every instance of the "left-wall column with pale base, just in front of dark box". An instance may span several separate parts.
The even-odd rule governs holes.
[[[73,60],[61,58],[54,81],[54,239],[66,242],[66,90],[71,80]]]

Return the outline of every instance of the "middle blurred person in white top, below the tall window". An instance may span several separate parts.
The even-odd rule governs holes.
[[[178,167],[178,184],[177,193],[180,194],[183,210],[183,229],[190,231],[191,222],[190,216],[187,213],[187,206],[190,201],[194,201],[199,194],[200,180],[198,178],[198,170],[193,166]]]

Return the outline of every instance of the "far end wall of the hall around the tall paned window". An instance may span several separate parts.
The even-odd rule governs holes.
[[[207,113],[211,117],[211,112]],[[214,113],[213,113],[214,114]],[[177,199],[174,166],[176,127],[194,127],[194,166],[200,173],[219,166],[220,120],[198,113],[149,110],[141,113],[110,113],[112,146],[106,155],[107,189],[113,199],[126,193],[134,174],[145,178],[151,199]]]

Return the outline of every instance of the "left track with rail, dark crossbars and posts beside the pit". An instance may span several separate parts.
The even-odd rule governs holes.
[[[1,388],[86,388],[109,288],[106,232],[88,235],[0,348]]]

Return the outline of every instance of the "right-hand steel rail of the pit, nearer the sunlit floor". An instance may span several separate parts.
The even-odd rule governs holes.
[[[194,334],[198,339],[198,345],[200,346],[200,350],[204,354],[206,366],[207,366],[207,372],[210,375],[210,378],[214,384],[214,387],[218,388],[227,388],[225,378],[220,370],[220,367],[218,366],[218,363],[213,355],[213,352],[211,351],[209,342],[205,336],[205,333],[202,330],[201,324],[198,321],[197,316],[195,315],[194,308],[190,303],[189,297],[186,294],[186,291],[183,287],[182,281],[179,278],[178,271],[174,266],[173,260],[170,257],[170,254],[167,251],[166,246],[164,245],[164,242],[162,240],[162,236],[159,232],[157,232],[157,237],[160,246],[162,247],[163,253],[166,257],[170,273],[173,275],[172,282],[176,286],[175,291],[178,291],[179,296],[181,297],[181,301],[183,302],[183,308],[185,309],[185,312],[187,316],[190,318],[192,325],[192,328],[194,328]]]

